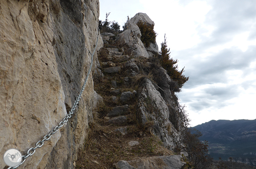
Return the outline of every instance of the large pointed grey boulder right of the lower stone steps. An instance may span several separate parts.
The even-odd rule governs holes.
[[[169,109],[165,100],[150,80],[146,80],[145,87],[141,91],[139,98],[140,122],[153,121],[155,123],[154,130],[151,133],[159,136],[166,146],[173,146],[172,134],[176,134],[177,131],[169,120]]]

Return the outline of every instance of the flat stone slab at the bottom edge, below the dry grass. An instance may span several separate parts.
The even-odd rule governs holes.
[[[129,165],[132,163],[133,167]],[[116,169],[183,169],[185,162],[181,161],[181,156],[155,156],[140,158],[133,161],[118,161],[115,163]]]

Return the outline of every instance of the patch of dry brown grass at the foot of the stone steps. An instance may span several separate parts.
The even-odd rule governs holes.
[[[159,138],[150,134],[148,126],[139,128],[129,125],[128,134],[124,136],[114,132],[116,128],[119,127],[98,123],[90,126],[85,147],[76,161],[76,169],[113,169],[113,164],[120,160],[173,154],[163,147]],[[131,140],[138,141],[140,145],[128,146]]]

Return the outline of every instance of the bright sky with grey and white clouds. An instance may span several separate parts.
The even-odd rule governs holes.
[[[256,119],[255,0],[100,0],[121,26],[146,13],[189,80],[178,93],[191,126],[210,120]]]

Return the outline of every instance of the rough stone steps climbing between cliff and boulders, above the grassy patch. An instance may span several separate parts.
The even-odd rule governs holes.
[[[108,111],[105,114],[99,114],[103,120],[104,125],[113,125],[115,132],[120,132],[122,135],[127,134],[127,127],[129,126],[129,116],[131,109],[135,106],[134,99],[136,91],[130,88],[130,77],[126,76],[125,63],[131,59],[130,56],[124,55],[123,50],[115,45],[104,44],[101,49],[101,55],[98,57],[100,62],[101,72],[104,73],[101,79],[108,84],[100,86],[98,93],[102,94],[104,91],[103,101],[108,106]],[[130,88],[130,91],[125,91]],[[134,113],[134,112],[133,112]],[[133,141],[133,140],[131,140]]]

